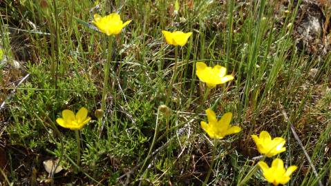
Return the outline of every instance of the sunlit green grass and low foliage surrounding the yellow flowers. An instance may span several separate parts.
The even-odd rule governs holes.
[[[232,112],[231,124],[243,131],[219,141],[209,185],[267,183],[254,169],[260,154],[250,136],[262,130],[283,136],[287,151],[278,157],[299,167],[287,185],[330,184],[331,53],[296,49],[295,26],[287,25],[297,24],[299,4],[186,0],[178,1],[174,14],[175,1],[165,0],[48,0],[44,8],[39,2],[0,3],[1,51],[10,59],[0,63],[1,101],[20,78],[10,76],[11,59],[21,61],[21,76],[30,74],[0,111],[7,160],[0,167],[3,183],[49,182],[42,162],[57,158],[64,170],[54,175],[54,185],[202,185],[215,141],[200,121],[212,107],[219,116]],[[102,107],[108,39],[88,24],[94,13],[107,12],[133,21],[113,39],[105,114],[98,121],[94,112]],[[325,17],[330,15],[325,8]],[[171,97],[175,48],[165,43],[162,30],[193,32],[178,48]],[[206,90],[195,74],[196,61],[226,66],[235,79],[212,89],[203,101]],[[167,99],[169,117],[158,112]],[[80,107],[92,120],[81,130],[81,171],[75,172],[75,132],[55,120],[62,110]]]

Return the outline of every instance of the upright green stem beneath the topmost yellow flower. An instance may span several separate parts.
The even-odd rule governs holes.
[[[101,109],[106,110],[106,98],[108,92],[109,66],[111,64],[111,48],[113,46],[113,36],[109,37],[107,61],[104,64],[104,90],[102,90]]]

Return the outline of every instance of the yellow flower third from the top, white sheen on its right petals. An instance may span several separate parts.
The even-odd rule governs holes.
[[[196,75],[200,81],[207,83],[209,88],[216,87],[218,84],[223,84],[234,79],[234,76],[225,75],[226,73],[227,69],[223,66],[216,65],[214,68],[211,68],[203,62],[196,63]]]

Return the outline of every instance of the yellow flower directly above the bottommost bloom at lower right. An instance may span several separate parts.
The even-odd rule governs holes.
[[[283,147],[285,145],[284,138],[277,137],[272,140],[272,137],[266,131],[261,132],[259,137],[252,135],[252,138],[256,147],[258,147],[258,152],[265,154],[269,158],[286,150]]]

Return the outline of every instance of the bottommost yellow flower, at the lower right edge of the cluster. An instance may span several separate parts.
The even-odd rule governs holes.
[[[298,168],[292,165],[286,170],[280,158],[276,158],[272,161],[272,167],[269,167],[264,161],[258,162],[258,166],[261,167],[265,179],[274,185],[285,185],[290,180],[291,174]]]

